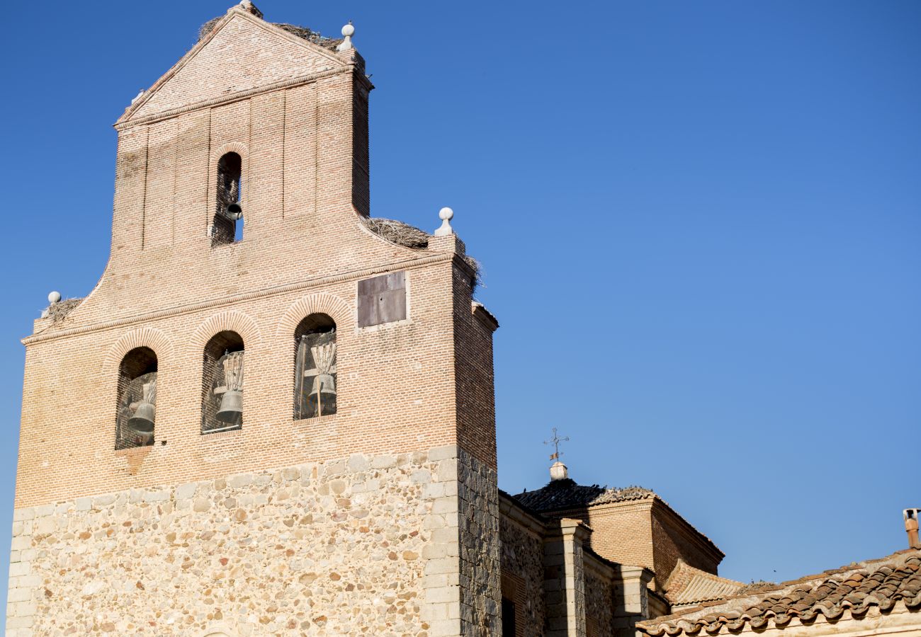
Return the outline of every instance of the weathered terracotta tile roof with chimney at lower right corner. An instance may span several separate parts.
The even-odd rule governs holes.
[[[740,631],[766,629],[773,621],[786,626],[797,618],[814,620],[820,614],[836,620],[850,611],[861,615],[871,607],[886,613],[899,601],[921,608],[921,550],[902,550],[869,562],[809,575],[750,595],[705,603],[681,612],[636,624],[639,631],[659,635],[714,633],[724,626]]]

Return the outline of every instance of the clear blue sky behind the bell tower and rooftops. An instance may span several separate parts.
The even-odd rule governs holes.
[[[50,290],[103,270],[111,123],[229,4],[4,8],[3,573],[18,340]],[[502,488],[546,481],[557,426],[577,481],[656,490],[729,577],[906,546],[921,3],[257,4],[330,35],[355,21],[372,214],[431,231],[450,205],[483,262]]]

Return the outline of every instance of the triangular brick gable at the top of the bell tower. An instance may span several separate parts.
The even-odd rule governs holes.
[[[334,52],[234,7],[116,124],[230,98],[345,64]]]

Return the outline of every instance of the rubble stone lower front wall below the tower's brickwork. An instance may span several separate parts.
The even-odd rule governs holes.
[[[456,456],[353,455],[17,509],[6,634],[452,634],[424,618],[460,616],[426,596],[433,571],[458,576]],[[479,488],[472,519],[495,526],[472,464],[461,508]],[[432,559],[452,547],[453,562]]]

